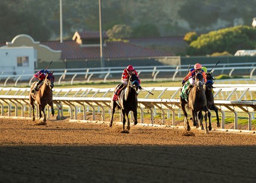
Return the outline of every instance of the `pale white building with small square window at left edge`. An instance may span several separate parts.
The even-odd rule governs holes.
[[[0,47],[0,76],[26,75],[21,79],[29,79],[34,75],[36,51],[33,47]]]

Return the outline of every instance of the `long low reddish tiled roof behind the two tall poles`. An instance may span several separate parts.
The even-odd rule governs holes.
[[[59,41],[49,41],[40,42],[40,44],[46,45],[53,50],[62,50],[61,59],[100,58],[100,45],[81,46],[75,41],[63,41],[63,43],[60,43]],[[103,46],[103,53],[106,59],[172,56],[171,53],[164,53],[122,41],[107,42],[106,46]]]

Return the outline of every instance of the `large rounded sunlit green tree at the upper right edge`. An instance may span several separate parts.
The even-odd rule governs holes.
[[[254,49],[255,44],[256,29],[236,26],[200,35],[191,42],[186,52],[193,56],[224,51],[234,54],[237,50]]]

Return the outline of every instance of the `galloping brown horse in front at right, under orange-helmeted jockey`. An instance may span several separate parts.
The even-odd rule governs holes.
[[[198,119],[197,119],[197,112],[199,112],[200,114],[202,114],[202,111],[205,112],[205,116],[204,116],[205,133],[209,133],[208,128],[209,128],[209,130],[211,130],[211,121],[210,121],[211,113],[207,107],[205,90],[203,87],[202,73],[198,72],[196,74],[196,81],[194,83],[193,88],[190,90],[190,93],[188,94],[188,102],[185,99],[182,99],[182,97],[180,97],[180,105],[181,105],[182,111],[185,115],[185,122],[187,124],[187,126],[185,128],[187,131],[190,131],[190,124],[187,120],[187,112],[185,109],[186,105],[189,109],[191,109],[193,125],[196,127],[199,127]],[[209,127],[208,128],[207,128],[207,117],[209,118]],[[202,129],[203,129],[202,120],[200,120],[200,125],[202,126]]]

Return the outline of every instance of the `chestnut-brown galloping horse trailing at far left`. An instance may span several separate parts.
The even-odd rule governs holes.
[[[33,121],[35,121],[35,113],[34,113],[34,101],[38,103],[39,106],[39,119],[42,117],[42,113],[44,113],[44,122],[46,122],[46,114],[45,114],[45,106],[48,104],[51,106],[52,117],[54,116],[53,102],[52,102],[52,87],[54,82],[54,77],[52,73],[47,74],[44,81],[42,81],[42,85],[38,91],[35,91],[35,94],[32,93],[32,89],[36,81],[32,84],[31,90],[29,92],[29,102],[33,108]]]

